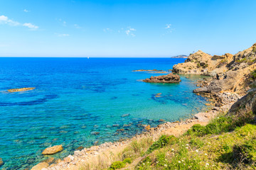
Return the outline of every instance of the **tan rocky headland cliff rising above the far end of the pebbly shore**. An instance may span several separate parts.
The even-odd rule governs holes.
[[[235,55],[208,55],[199,50],[181,64],[174,65],[177,74],[201,74],[211,76],[204,86],[194,90],[200,92],[229,91],[245,94],[256,79],[256,43]]]

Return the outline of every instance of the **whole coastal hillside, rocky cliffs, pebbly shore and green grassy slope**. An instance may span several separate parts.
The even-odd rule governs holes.
[[[193,91],[208,97],[209,111],[156,128],[145,125],[132,139],[46,159],[33,170],[256,169],[256,44],[236,55],[199,50],[173,72],[210,76]]]

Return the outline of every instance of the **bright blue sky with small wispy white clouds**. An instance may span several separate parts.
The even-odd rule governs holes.
[[[0,0],[0,57],[235,54],[256,42],[255,0]]]

